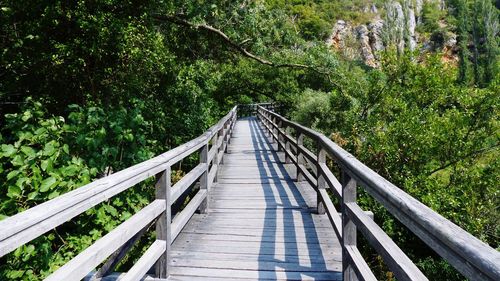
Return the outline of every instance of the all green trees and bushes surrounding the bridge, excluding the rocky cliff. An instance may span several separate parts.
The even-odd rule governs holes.
[[[182,144],[236,104],[276,101],[499,249],[498,7],[444,2],[418,28],[456,33],[457,64],[388,44],[374,68],[325,39],[338,19],[370,21],[366,5],[383,17],[383,0],[0,1],[0,219]],[[0,279],[42,280],[153,194],[138,185],[0,258]],[[429,279],[463,280],[359,200]],[[363,254],[380,280],[394,279]]]

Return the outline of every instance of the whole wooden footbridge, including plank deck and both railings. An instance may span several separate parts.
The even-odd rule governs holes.
[[[356,203],[361,189],[466,278],[500,280],[498,251],[272,109],[235,107],[196,139],[0,221],[0,257],[155,177],[155,200],[46,280],[376,280],[358,235],[397,280],[427,280]],[[199,164],[172,183],[190,155]],[[149,232],[155,242],[115,272]]]

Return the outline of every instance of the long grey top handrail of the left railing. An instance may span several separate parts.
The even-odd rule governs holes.
[[[190,155],[235,112],[236,107],[203,135],[166,153],[0,221],[0,257]]]

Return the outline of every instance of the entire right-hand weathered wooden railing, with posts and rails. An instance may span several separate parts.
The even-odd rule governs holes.
[[[279,150],[284,151],[286,162],[295,164],[297,180],[307,180],[316,190],[318,212],[326,212],[342,244],[345,281],[376,280],[357,248],[357,231],[383,257],[397,280],[427,280],[404,251],[356,203],[358,186],[468,279],[500,280],[499,252],[406,194],[323,134],[261,106],[258,117]],[[304,146],[305,138],[316,146],[316,154]],[[327,166],[327,157],[340,169],[341,181]],[[327,189],[341,202],[340,215]]]

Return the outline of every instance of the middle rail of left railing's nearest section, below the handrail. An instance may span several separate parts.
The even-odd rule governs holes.
[[[117,226],[110,233],[78,254],[71,261],[52,273],[45,280],[81,280],[104,259],[130,240],[142,228],[165,210],[164,200],[155,200],[131,218]]]

